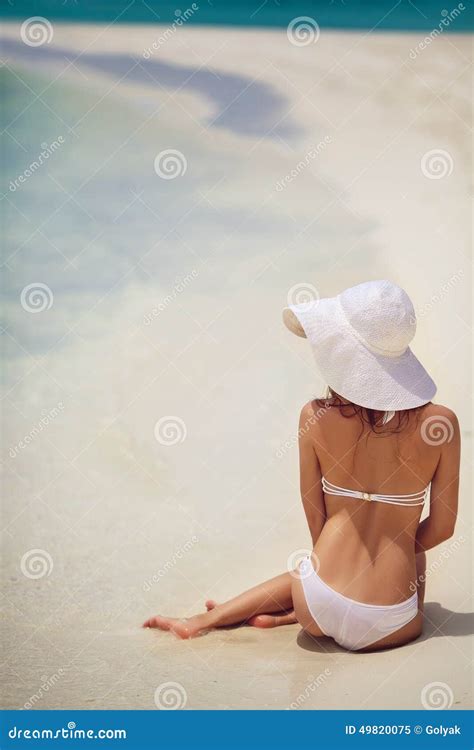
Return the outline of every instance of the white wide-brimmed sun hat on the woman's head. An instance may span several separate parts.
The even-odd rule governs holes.
[[[359,406],[413,409],[436,393],[409,348],[416,330],[412,302],[390,281],[366,281],[337,297],[290,305],[283,321],[308,339],[327,384]]]

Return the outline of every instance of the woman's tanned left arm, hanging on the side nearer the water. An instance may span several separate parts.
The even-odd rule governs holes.
[[[301,410],[298,426],[300,453],[300,490],[303,508],[308,521],[313,546],[326,522],[326,508],[321,486],[321,468],[315,452],[315,413],[311,403]]]

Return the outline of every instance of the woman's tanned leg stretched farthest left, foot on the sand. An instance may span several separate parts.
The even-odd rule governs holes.
[[[171,630],[180,638],[192,638],[203,630],[221,628],[246,622],[255,615],[267,612],[285,612],[293,609],[291,598],[291,573],[282,573],[265,583],[254,586],[243,594],[218,604],[208,612],[194,615],[186,620],[170,617],[151,617],[143,627]]]

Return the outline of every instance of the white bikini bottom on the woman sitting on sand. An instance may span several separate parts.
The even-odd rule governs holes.
[[[343,596],[321,580],[306,557],[300,564],[306,604],[324,635],[349,651],[366,648],[395,633],[418,614],[418,595],[400,604],[364,604]]]

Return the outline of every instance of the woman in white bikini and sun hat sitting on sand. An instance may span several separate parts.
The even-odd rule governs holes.
[[[313,552],[283,573],[186,620],[144,626],[181,638],[237,623],[299,622],[352,651],[401,646],[423,626],[426,550],[457,515],[460,436],[455,414],[409,349],[413,305],[371,281],[294,305],[285,325],[306,337],[330,385],[299,424],[300,483]],[[429,490],[429,516],[420,523]]]

